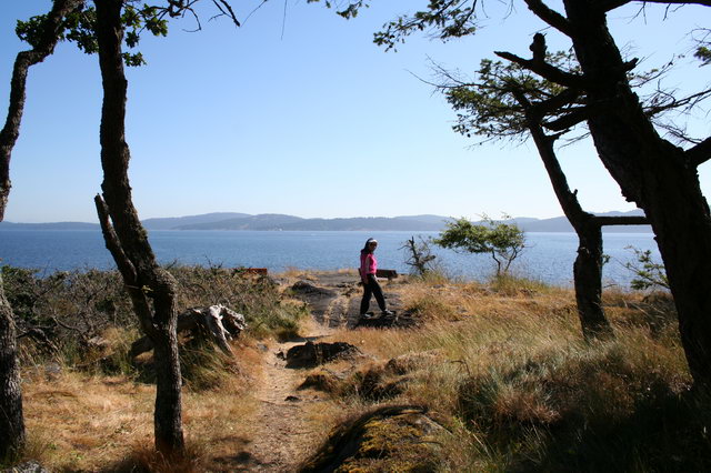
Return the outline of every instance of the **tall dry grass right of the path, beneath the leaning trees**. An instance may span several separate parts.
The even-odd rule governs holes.
[[[711,469],[710,397],[691,390],[668,295],[603,294],[615,336],[587,343],[571,290],[505,284],[413,286],[408,302],[432,315],[423,329],[369,333],[388,358],[443,353],[400,397],[457,432],[443,469]],[[434,316],[448,306],[465,313]]]

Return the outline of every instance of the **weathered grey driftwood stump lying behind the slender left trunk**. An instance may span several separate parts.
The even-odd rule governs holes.
[[[178,333],[190,331],[201,336],[209,336],[228,354],[232,354],[228,340],[239,335],[247,328],[244,315],[224,305],[210,305],[202,309],[189,309],[178,315]],[[153,342],[143,336],[131,344],[131,358],[153,349]]]

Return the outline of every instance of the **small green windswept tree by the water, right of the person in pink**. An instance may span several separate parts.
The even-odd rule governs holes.
[[[504,217],[508,218],[508,217]],[[435,244],[467,253],[491,253],[497,262],[497,276],[509,272],[513,260],[525,248],[525,234],[515,223],[497,222],[482,215],[484,224],[461,218],[447,223]]]

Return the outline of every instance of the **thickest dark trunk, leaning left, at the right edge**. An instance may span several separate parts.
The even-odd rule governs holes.
[[[588,121],[603,164],[644,210],[667,269],[679,331],[697,384],[711,386],[711,215],[695,163],[654,130],[632,92],[604,11],[564,0],[573,48],[601,113]]]

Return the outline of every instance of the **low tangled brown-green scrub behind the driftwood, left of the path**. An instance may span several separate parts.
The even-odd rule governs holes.
[[[293,335],[307,313],[302,304],[283,302],[267,276],[219,266],[168,270],[179,284],[178,312],[220,303],[243,313],[253,336]],[[43,275],[3,266],[2,275],[24,361],[51,358],[104,373],[134,373],[127,352],[140,329],[117,271]]]

